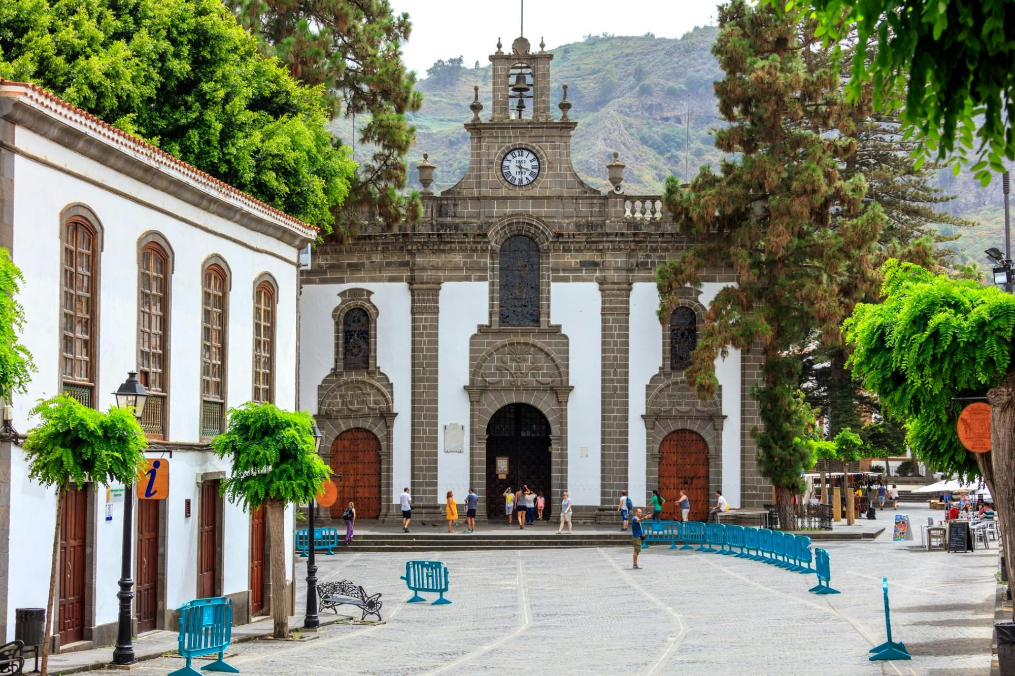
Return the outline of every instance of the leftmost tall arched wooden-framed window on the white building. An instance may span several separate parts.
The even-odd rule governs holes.
[[[73,216],[63,224],[63,390],[85,406],[95,404],[98,288],[95,228]]]

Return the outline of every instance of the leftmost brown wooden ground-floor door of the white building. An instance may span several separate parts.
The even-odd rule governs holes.
[[[88,491],[67,491],[60,522],[60,645],[84,638],[84,553],[88,535]]]

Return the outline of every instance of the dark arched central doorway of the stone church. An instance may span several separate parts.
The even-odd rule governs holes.
[[[501,464],[506,462],[507,471]],[[546,416],[529,404],[501,407],[486,425],[486,514],[490,519],[504,518],[503,492],[523,485],[546,497],[543,519],[549,519],[553,500],[551,482],[553,463],[550,423]]]

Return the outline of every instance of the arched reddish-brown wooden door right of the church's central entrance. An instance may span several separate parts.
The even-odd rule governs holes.
[[[679,519],[680,491],[691,501],[691,521],[707,521],[708,446],[697,432],[678,429],[659,447],[659,492],[666,498],[664,519]]]

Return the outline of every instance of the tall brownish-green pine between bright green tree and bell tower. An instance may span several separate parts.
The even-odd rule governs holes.
[[[402,62],[409,15],[392,12],[388,0],[225,0],[241,23],[277,56],[289,73],[322,85],[333,114],[363,116],[359,142],[370,159],[352,177],[349,199],[335,209],[336,235],[344,241],[365,214],[389,226],[419,218],[415,191],[401,195],[408,181],[405,154],[416,128],[406,113],[423,104],[416,74]],[[456,59],[461,67],[461,58]],[[357,125],[358,126],[358,125]]]

